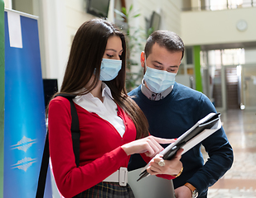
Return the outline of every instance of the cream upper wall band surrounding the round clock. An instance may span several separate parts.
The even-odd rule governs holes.
[[[236,23],[244,19],[246,31]],[[185,45],[239,43],[256,40],[256,7],[234,10],[181,12],[181,38]]]

